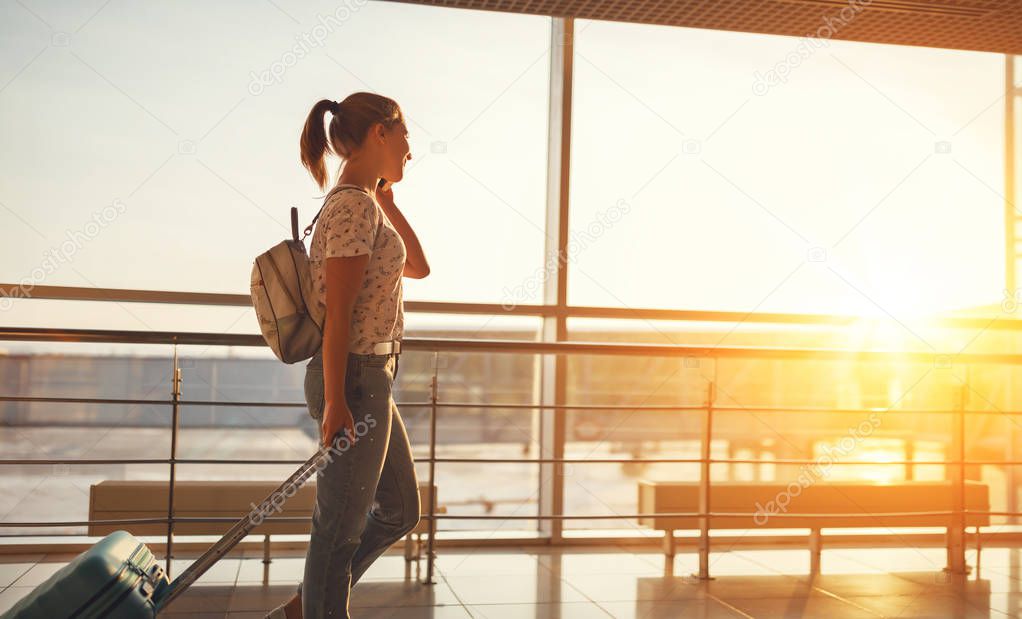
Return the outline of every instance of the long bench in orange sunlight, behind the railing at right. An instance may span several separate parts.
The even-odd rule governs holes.
[[[988,512],[989,487],[980,482],[966,483],[966,510]],[[809,486],[797,483],[713,482],[709,492],[710,513],[740,514],[714,516],[712,529],[809,529],[810,571],[820,571],[823,550],[822,528],[861,527],[944,527],[948,552],[948,516],[905,514],[942,512],[951,509],[951,486],[947,481],[904,481],[893,483],[821,482]],[[680,481],[639,481],[639,513],[698,513],[699,483]],[[786,514],[808,514],[808,517]],[[834,514],[827,517],[828,514]],[[849,518],[842,514],[870,514],[870,518]],[[699,529],[696,516],[652,516],[639,524],[664,531],[663,552],[675,556],[675,531]],[[989,526],[986,514],[967,514],[965,526]],[[977,547],[978,552],[978,547]]]

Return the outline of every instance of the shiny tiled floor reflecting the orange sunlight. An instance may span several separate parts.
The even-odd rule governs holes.
[[[620,549],[454,550],[423,585],[401,555],[380,558],[352,591],[356,619],[715,619],[725,617],[1014,617],[1022,614],[1022,550],[987,549],[968,578],[944,575],[942,549],[824,551],[809,577],[805,551],[714,554],[709,581],[695,556],[665,565]],[[68,556],[0,556],[0,612]],[[975,565],[975,559],[970,563]],[[175,562],[175,571],[186,561]],[[304,557],[282,557],[263,584],[259,553],[229,557],[169,617],[262,618],[294,590]],[[424,568],[424,564],[422,566]],[[672,573],[671,573],[672,572]]]

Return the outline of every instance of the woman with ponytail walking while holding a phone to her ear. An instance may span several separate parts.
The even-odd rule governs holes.
[[[322,189],[330,151],[344,164],[310,248],[313,308],[324,321],[305,388],[333,458],[316,478],[305,580],[274,618],[347,619],[351,587],[419,521],[412,449],[391,387],[404,331],[402,277],[424,278],[429,266],[390,191],[412,158],[398,103],[367,92],[316,103],[301,162]]]

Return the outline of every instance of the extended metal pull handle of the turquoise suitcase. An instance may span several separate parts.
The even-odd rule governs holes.
[[[171,582],[164,596],[156,603],[156,612],[162,611],[174,600],[183,593],[193,582],[206,572],[218,561],[224,558],[235,545],[241,541],[252,529],[263,524],[264,519],[276,512],[283,502],[294,495],[299,487],[309,480],[317,471],[320,462],[329,457],[331,447],[320,446],[319,450],[306,461],[298,470],[288,477],[284,483],[280,484],[276,490],[270,493],[259,508],[249,512],[244,518],[232,526],[217,543],[210,546],[210,550],[195,560],[188,569]]]

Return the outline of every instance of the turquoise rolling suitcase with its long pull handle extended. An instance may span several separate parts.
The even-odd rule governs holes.
[[[232,526],[188,569],[169,580],[156,557],[127,531],[110,533],[60,568],[0,619],[151,619],[230,552],[283,501],[294,495],[328,456],[320,447],[257,510]]]

